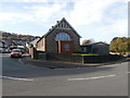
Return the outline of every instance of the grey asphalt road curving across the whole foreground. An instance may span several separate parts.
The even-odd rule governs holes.
[[[37,68],[2,56],[3,96],[128,96],[128,62],[107,66]]]

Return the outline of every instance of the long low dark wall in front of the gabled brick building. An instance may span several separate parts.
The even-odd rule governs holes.
[[[104,62],[117,61],[122,59],[122,57],[118,54],[75,56],[75,54],[63,54],[63,53],[53,53],[53,52],[44,53],[41,51],[37,52],[37,58],[40,60],[75,62],[75,63],[104,63]]]

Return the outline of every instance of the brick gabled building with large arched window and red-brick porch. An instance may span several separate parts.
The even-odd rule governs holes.
[[[73,53],[80,50],[81,36],[63,17],[37,41],[37,50],[46,52]]]

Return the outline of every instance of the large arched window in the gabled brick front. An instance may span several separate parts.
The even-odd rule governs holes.
[[[70,41],[72,38],[67,33],[58,33],[55,37],[56,41]]]

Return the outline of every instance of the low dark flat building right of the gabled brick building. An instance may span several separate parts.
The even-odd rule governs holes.
[[[109,45],[105,42],[81,45],[81,51],[84,53],[109,54]]]

